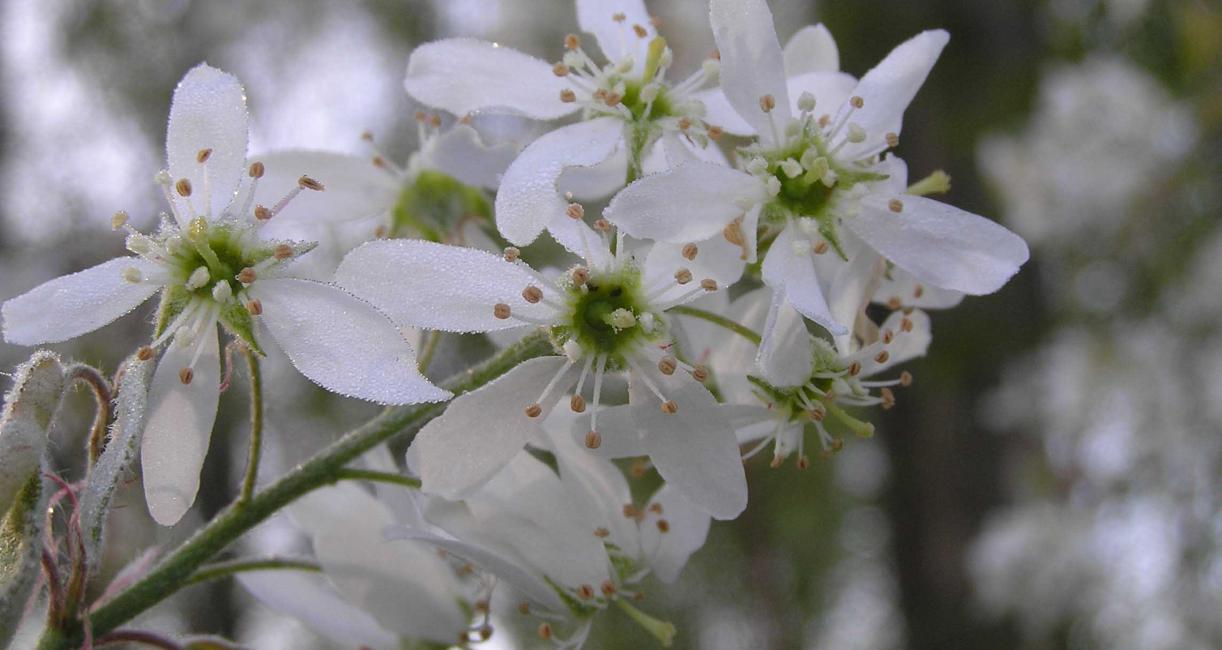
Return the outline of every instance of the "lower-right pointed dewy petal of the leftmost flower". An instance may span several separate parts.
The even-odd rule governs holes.
[[[293,367],[324,389],[380,404],[450,397],[419,373],[412,346],[369,303],[321,282],[260,280],[251,294],[259,319]]]

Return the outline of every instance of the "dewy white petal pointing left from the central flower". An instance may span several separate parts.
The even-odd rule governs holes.
[[[546,304],[522,297],[524,288],[540,285],[525,268],[484,250],[420,239],[362,244],[340,263],[335,282],[411,327],[486,332],[522,325],[496,318],[497,303],[532,319],[555,315]]]

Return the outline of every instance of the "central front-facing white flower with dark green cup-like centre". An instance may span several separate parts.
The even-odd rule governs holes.
[[[517,249],[502,259],[422,241],[370,242],[340,265],[340,286],[401,325],[463,332],[538,325],[563,353],[525,362],[459,396],[425,425],[413,444],[424,489],[451,498],[469,494],[538,437],[538,423],[574,382],[569,406],[577,412],[585,409],[593,384],[584,440],[599,447],[604,379],[624,371],[633,429],[622,435],[639,439],[662,478],[693,503],[717,518],[736,517],[747,485],[733,434],[716,418],[714,397],[693,379],[706,371],[668,351],[666,310],[715,291],[716,281],[671,265],[667,254],[650,254],[638,266],[622,237],[616,254],[605,233],[584,248],[587,265],[558,282],[518,260]]]

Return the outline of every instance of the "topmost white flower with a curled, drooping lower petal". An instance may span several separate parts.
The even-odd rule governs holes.
[[[578,0],[577,17],[596,37],[606,65],[596,64],[572,34],[556,65],[473,39],[428,43],[408,61],[408,94],[456,115],[491,111],[555,120],[582,112],[583,121],[544,134],[506,170],[496,221],[514,246],[547,230],[580,253],[585,228],[565,217],[567,200],[557,189],[562,176],[578,199],[599,198],[638,177],[655,143],[661,143],[666,166],[719,155],[715,148],[705,152],[709,136],[720,130],[701,120],[704,109],[694,94],[716,78],[716,61],[672,86],[665,79],[671,51],[656,38],[642,0]],[[574,173],[577,169],[584,171]]]

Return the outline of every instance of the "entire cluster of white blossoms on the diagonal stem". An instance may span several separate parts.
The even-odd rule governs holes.
[[[292,506],[323,577],[243,582],[341,643],[477,643],[518,610],[578,646],[611,605],[668,643],[633,605],[639,582],[673,580],[711,519],[743,512],[744,461],[771,446],[772,467],[805,468],[810,445],[873,435],[864,411],[893,406],[913,381],[893,368],[930,345],[923,309],[991,293],[1026,261],[1015,235],[927,198],[945,173],[909,184],[892,153],[945,32],[857,79],[822,26],[782,49],[764,0],[712,0],[717,53],[672,82],[642,0],[577,10],[595,43],[569,34],[555,64],[419,46],[406,89],[440,112],[417,114],[403,167],[376,150],[248,161],[244,93],[200,65],[175,92],[158,232],[116,215],[132,257],[4,304],[5,338],[35,345],[160,292],[139,351],[160,354],[142,459],[166,525],[198,490],[218,324],[386,404],[450,397],[418,368],[419,330],[420,365],[442,332],[550,347],[453,398],[402,462],[354,470],[418,483],[409,497],[342,484]],[[505,115],[554,128],[506,138]],[[544,232],[565,250],[535,246]],[[640,498],[626,468],[660,488]]]

